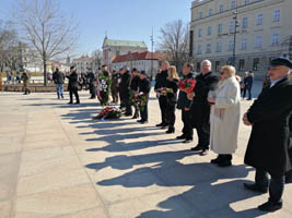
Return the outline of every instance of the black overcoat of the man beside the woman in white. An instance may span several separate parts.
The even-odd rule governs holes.
[[[209,72],[196,76],[195,96],[191,102],[191,119],[192,128],[202,129],[205,132],[210,131],[210,111],[211,105],[208,102],[208,93],[215,90],[219,82],[219,76]]]

